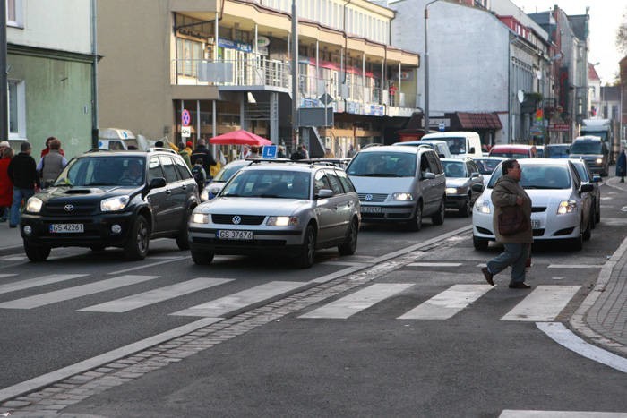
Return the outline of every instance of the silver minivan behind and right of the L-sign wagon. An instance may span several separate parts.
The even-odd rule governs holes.
[[[426,147],[362,149],[347,173],[355,184],[366,222],[406,222],[418,231],[423,217],[444,222],[446,179],[440,158]]]

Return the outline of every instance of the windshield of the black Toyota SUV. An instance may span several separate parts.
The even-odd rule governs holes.
[[[136,186],[144,183],[145,158],[102,156],[75,158],[65,166],[55,186]]]

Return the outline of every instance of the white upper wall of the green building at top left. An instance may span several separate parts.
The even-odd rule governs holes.
[[[8,26],[9,43],[90,54],[90,0],[18,0],[21,28]]]

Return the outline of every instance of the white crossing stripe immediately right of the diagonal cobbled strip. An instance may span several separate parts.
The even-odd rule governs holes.
[[[348,294],[335,302],[327,303],[314,311],[305,313],[298,318],[324,318],[346,320],[355,315],[358,311],[363,311],[383,299],[399,294],[408,287],[414,286],[412,283],[377,283],[364,289],[358,290],[354,294]]]

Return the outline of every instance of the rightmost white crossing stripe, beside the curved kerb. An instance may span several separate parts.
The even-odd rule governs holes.
[[[581,286],[537,286],[501,320],[553,321]]]

